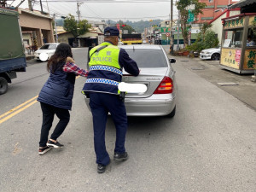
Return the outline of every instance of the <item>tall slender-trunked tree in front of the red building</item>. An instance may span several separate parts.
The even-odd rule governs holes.
[[[201,9],[204,9],[207,4],[206,3],[200,3],[199,0],[179,0],[176,5],[177,9],[179,10],[179,13],[181,15],[181,29],[182,29],[182,34],[183,34],[183,39],[184,39],[184,45],[186,46],[189,44],[189,28],[191,26],[188,26],[187,20],[189,17],[189,10],[186,8],[189,5],[195,4],[195,9],[191,10],[191,12],[195,15],[195,17],[199,14],[202,14]]]

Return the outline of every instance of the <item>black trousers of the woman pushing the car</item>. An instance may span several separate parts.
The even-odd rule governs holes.
[[[39,147],[45,147],[48,141],[49,130],[51,128],[55,114],[60,119],[60,121],[56,125],[55,130],[50,136],[50,138],[53,140],[57,140],[57,138],[61,136],[62,132],[67,127],[70,119],[70,114],[69,111],[65,108],[55,108],[54,106],[48,105],[44,102],[40,103],[43,112],[43,124],[41,128]]]

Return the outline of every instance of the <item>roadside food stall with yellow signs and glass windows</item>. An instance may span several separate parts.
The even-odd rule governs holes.
[[[233,7],[241,8],[241,15],[222,19],[220,67],[236,73],[254,73],[256,69],[255,2],[255,0],[248,0],[234,4]],[[249,11],[254,13],[247,13],[248,9],[244,9],[247,6]]]

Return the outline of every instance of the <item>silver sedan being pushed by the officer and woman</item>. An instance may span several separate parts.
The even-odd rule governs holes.
[[[123,82],[146,84],[147,91],[141,95],[128,93],[125,107],[128,116],[165,116],[173,117],[176,112],[177,83],[172,67],[174,59],[168,60],[160,45],[134,44],[120,46],[130,57],[137,61],[140,74],[131,76],[123,71]],[[89,99],[85,96],[87,107]]]

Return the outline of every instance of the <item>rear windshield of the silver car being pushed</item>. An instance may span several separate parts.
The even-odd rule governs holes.
[[[168,67],[166,56],[160,49],[125,49],[128,55],[144,68]]]

